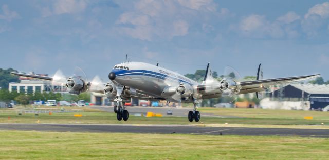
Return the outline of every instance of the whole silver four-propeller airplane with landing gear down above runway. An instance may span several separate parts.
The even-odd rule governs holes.
[[[23,73],[11,72],[11,74],[35,79],[57,81],[56,77],[47,77]],[[200,112],[196,104],[205,99],[232,97],[234,95],[255,93],[262,99],[267,87],[271,85],[285,84],[303,81],[318,77],[317,75],[286,77],[275,79],[263,79],[262,65],[259,64],[257,79],[249,81],[237,81],[231,77],[224,77],[221,81],[212,76],[213,72],[208,63],[206,75],[202,83],[198,83],[188,77],[166,68],[144,62],[124,62],[113,67],[108,74],[107,83],[99,81],[88,82],[80,76],[64,78],[64,84],[70,94],[79,95],[83,92],[102,94],[112,102],[116,102],[114,112],[117,120],[127,121],[129,112],[124,103],[132,98],[149,101],[167,100],[170,102],[193,103],[193,111],[189,111],[190,122],[200,121]],[[63,78],[61,78],[63,79]]]

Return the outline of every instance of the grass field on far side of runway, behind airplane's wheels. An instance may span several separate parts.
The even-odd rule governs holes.
[[[44,107],[40,107],[44,108]],[[60,108],[60,107],[58,107]],[[319,128],[329,129],[329,112],[240,109],[240,108],[199,108],[201,113],[212,113],[234,118],[202,117],[199,123],[189,122],[187,117],[136,117],[130,115],[129,121],[117,121],[115,113],[102,112],[87,107],[66,107],[82,109],[82,117],[74,117],[75,113],[52,113],[18,115],[16,112],[0,110],[0,123],[89,123],[89,124],[195,124],[221,127],[271,127],[271,128]],[[22,109],[22,108],[21,108]],[[305,120],[312,116],[313,120]],[[10,117],[10,119],[9,119]]]

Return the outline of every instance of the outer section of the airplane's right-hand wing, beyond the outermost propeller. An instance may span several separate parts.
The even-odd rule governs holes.
[[[320,75],[318,74],[318,75],[309,75],[309,76],[243,81],[243,82],[240,82],[241,90],[240,90],[239,94],[262,92],[262,91],[265,91],[265,89],[267,89],[267,87],[271,86],[271,85],[303,81],[303,80],[312,79],[312,78],[315,78],[318,76],[320,76]]]

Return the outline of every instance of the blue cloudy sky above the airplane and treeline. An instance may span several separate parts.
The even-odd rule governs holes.
[[[88,79],[142,61],[180,74],[205,69],[329,80],[328,1],[0,1],[0,68]],[[105,80],[105,81],[106,81]]]

